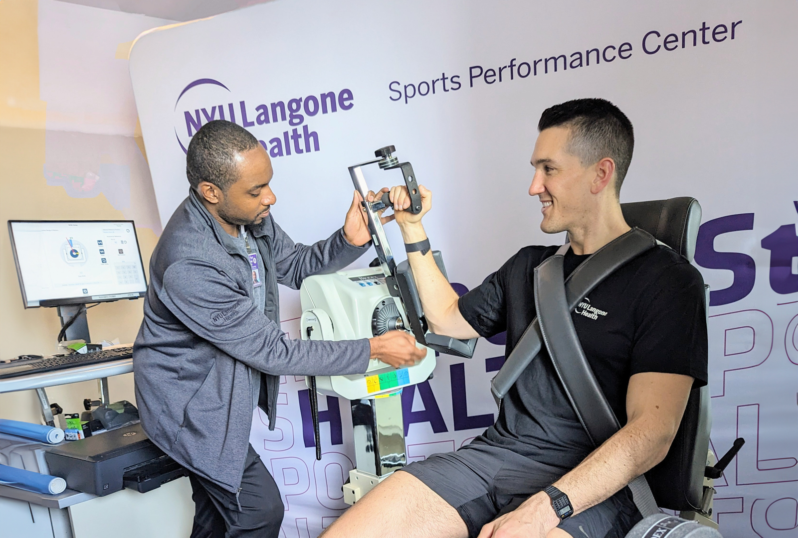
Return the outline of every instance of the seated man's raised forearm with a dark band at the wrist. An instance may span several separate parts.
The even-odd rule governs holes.
[[[421,222],[400,226],[402,238],[405,243],[416,243],[424,241],[427,234]],[[458,296],[452,286],[449,285],[443,273],[440,273],[435,258],[431,252],[421,255],[421,252],[410,252],[407,255],[413,277],[416,281],[418,294],[421,298],[421,308],[424,308],[424,315],[433,332],[454,336],[455,338],[468,338],[473,331],[470,325],[464,323],[464,327],[457,327],[452,324],[452,312],[456,310]],[[463,334],[460,335],[459,333]]]

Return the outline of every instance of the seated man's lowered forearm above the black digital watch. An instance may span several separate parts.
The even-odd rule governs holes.
[[[598,505],[668,453],[673,434],[652,419],[626,424],[582,463],[555,482],[571,500],[574,513]]]

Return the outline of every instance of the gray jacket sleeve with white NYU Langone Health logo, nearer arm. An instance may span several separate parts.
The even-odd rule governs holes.
[[[291,340],[209,261],[169,266],[159,299],[197,336],[267,374],[348,375],[368,367],[369,340]]]

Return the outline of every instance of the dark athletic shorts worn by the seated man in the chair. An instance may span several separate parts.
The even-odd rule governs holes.
[[[563,469],[480,442],[456,452],[433,454],[401,470],[452,505],[468,527],[468,536],[477,536],[484,524],[518,508],[527,497],[563,476]],[[630,489],[624,488],[569,517],[559,528],[573,538],[622,538],[641,519]]]

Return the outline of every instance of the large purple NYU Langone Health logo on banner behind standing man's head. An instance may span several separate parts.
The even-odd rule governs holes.
[[[189,83],[175,101],[175,136],[180,149],[188,153],[194,133],[212,120],[227,120],[250,129],[274,159],[283,155],[302,155],[320,151],[318,132],[305,124],[306,118],[318,114],[348,111],[354,107],[352,90],[321,92],[314,95],[275,100],[237,100],[230,88],[212,78],[199,78]],[[279,132],[282,122],[290,126]]]

